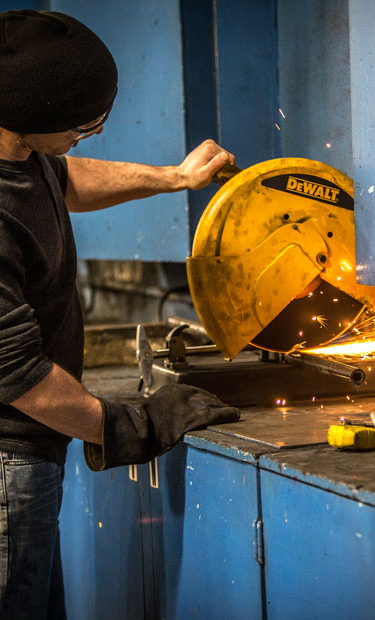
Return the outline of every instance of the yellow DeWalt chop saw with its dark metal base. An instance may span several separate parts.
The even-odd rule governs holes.
[[[375,288],[356,280],[352,180],[317,161],[282,158],[224,166],[216,181],[187,259],[194,306],[214,344],[185,347],[182,324],[152,351],[140,330],[146,393],[177,381],[230,404],[268,406],[345,395],[345,378],[374,394],[375,376],[365,380],[360,363],[306,353],[375,306]]]

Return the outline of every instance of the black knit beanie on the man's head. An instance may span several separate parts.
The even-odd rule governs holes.
[[[117,69],[87,26],[55,11],[0,13],[0,127],[67,131],[112,105]]]

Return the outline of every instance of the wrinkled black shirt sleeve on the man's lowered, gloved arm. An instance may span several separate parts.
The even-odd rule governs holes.
[[[0,401],[12,403],[51,370],[43,353],[40,326],[25,302],[24,257],[20,234],[0,217]]]

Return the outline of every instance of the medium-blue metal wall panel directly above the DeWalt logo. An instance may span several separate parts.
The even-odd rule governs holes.
[[[282,156],[316,159],[352,176],[348,2],[277,6]]]

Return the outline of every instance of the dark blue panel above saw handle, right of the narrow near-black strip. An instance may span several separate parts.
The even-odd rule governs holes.
[[[216,0],[219,139],[248,167],[279,155],[275,0]]]

